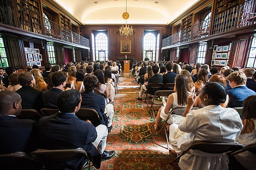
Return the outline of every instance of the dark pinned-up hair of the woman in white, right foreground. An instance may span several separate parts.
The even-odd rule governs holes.
[[[213,104],[220,105],[226,101],[227,88],[219,82],[208,82],[204,85],[203,94],[207,94],[212,99]]]

